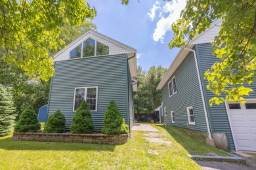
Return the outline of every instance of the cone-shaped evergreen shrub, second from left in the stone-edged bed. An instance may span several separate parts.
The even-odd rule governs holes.
[[[64,133],[66,130],[66,118],[60,112],[60,110],[56,110],[54,114],[49,116],[46,124],[45,124],[45,132],[46,133]]]

